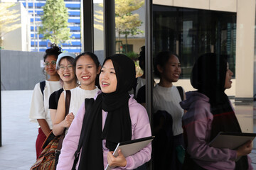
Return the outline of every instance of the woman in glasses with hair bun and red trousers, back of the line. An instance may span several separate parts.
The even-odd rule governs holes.
[[[53,44],[46,50],[46,54],[43,57],[44,70],[48,74],[49,79],[45,81],[45,86],[41,87],[41,84],[36,84],[32,101],[31,109],[29,113],[29,119],[31,122],[38,123],[38,137],[36,139],[36,158],[42,152],[42,145],[46,136],[50,130],[53,129],[52,122],[50,120],[50,112],[48,110],[48,100],[50,94],[61,88],[60,77],[58,76],[55,65],[58,55],[61,53],[61,48]],[[43,81],[42,81],[43,82]],[[41,92],[43,91],[43,94]]]

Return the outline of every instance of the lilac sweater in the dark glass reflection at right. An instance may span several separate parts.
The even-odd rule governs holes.
[[[187,111],[183,115],[183,126],[188,135],[187,152],[204,169],[235,169],[236,151],[210,147],[210,131],[213,114],[210,113],[209,98],[197,91],[186,93],[186,101],[181,107]],[[248,157],[249,169],[252,169]]]

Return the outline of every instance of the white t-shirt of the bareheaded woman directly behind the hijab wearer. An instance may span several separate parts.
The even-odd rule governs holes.
[[[76,87],[75,89],[71,89],[69,113],[72,112],[74,115],[77,115],[79,108],[82,106],[82,104],[85,104],[85,98],[94,98],[99,90],[100,89],[98,89],[97,86],[93,90],[84,90],[81,89],[80,86]],[[63,92],[64,96],[66,96],[65,91]]]

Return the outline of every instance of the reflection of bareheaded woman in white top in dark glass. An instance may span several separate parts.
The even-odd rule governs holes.
[[[179,102],[181,102],[181,96],[184,96],[184,92],[182,89],[182,95],[180,95],[177,87],[173,85],[174,82],[178,81],[178,77],[181,74],[181,63],[177,55],[168,51],[159,52],[154,60],[154,73],[160,78],[159,84],[156,84],[153,89],[154,113],[159,111],[155,115],[158,121],[154,120],[154,131],[156,132],[156,137],[157,134],[161,134],[161,140],[164,139],[161,142],[165,142],[170,149],[169,152],[171,152],[166,152],[166,155],[163,154],[163,159],[159,157],[159,154],[156,154],[158,159],[155,160],[155,165],[161,167],[160,169],[181,169],[182,160],[178,159],[177,154],[183,154],[181,118],[184,111]],[[163,134],[166,134],[166,136],[163,137]],[[161,142],[159,142],[160,145],[154,146],[157,148],[156,152],[164,146],[161,145]],[[181,152],[176,152],[177,149],[182,150]],[[166,161],[162,162],[164,159]]]

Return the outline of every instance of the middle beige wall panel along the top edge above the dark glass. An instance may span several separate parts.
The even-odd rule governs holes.
[[[209,0],[174,0],[174,6],[209,9]]]

